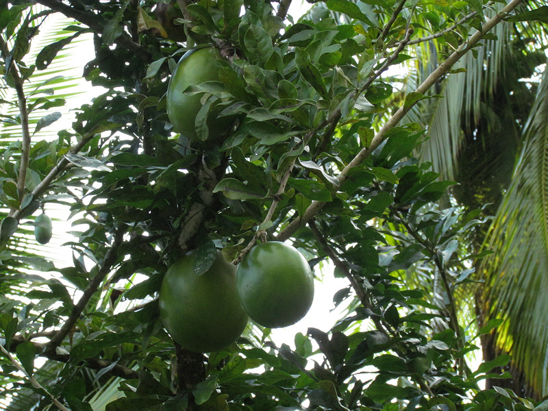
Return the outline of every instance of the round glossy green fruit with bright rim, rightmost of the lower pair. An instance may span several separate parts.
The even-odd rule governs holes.
[[[269,328],[297,323],[314,299],[314,277],[306,258],[277,241],[249,251],[236,271],[236,287],[249,318]]]

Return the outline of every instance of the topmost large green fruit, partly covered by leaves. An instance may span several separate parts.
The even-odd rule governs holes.
[[[203,93],[184,95],[183,92],[190,85],[203,82],[219,82],[219,68],[221,67],[221,53],[216,47],[198,49],[183,55],[167,88],[167,115],[173,124],[173,131],[188,137],[190,140],[199,140],[196,133],[195,120],[201,109]],[[234,116],[217,118],[221,109],[213,108],[208,114],[209,138],[217,138],[227,132],[234,123]]]

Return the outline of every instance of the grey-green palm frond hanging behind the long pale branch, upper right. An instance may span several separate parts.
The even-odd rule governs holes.
[[[500,5],[499,5],[500,7]],[[449,75],[434,93],[443,95],[443,99],[425,100],[408,114],[407,120],[419,123],[427,128],[430,137],[421,145],[419,157],[432,162],[434,171],[443,174],[445,179],[456,179],[458,173],[458,154],[464,144],[462,134],[462,114],[466,119],[477,121],[481,112],[482,94],[490,95],[497,81],[503,75],[501,62],[506,57],[510,41],[511,26],[501,24],[493,33],[499,40],[488,41],[477,49],[477,55],[466,53],[453,68],[458,73]],[[419,43],[415,49],[419,56],[418,66],[410,67],[406,88],[414,91],[436,68],[438,47],[436,43]],[[486,67],[489,69],[486,70]],[[467,124],[471,127],[471,124]]]

